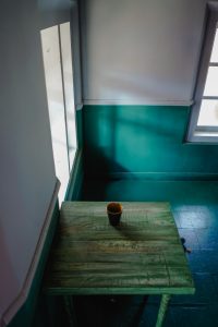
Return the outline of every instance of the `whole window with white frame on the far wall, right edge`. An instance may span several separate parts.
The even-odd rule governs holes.
[[[187,141],[218,143],[218,4],[214,2],[208,5]]]

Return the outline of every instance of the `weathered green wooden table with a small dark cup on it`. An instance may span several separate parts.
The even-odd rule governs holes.
[[[44,289],[63,295],[68,305],[73,294],[161,294],[161,326],[170,295],[195,291],[170,205],[124,202],[116,228],[106,206],[62,204]]]

